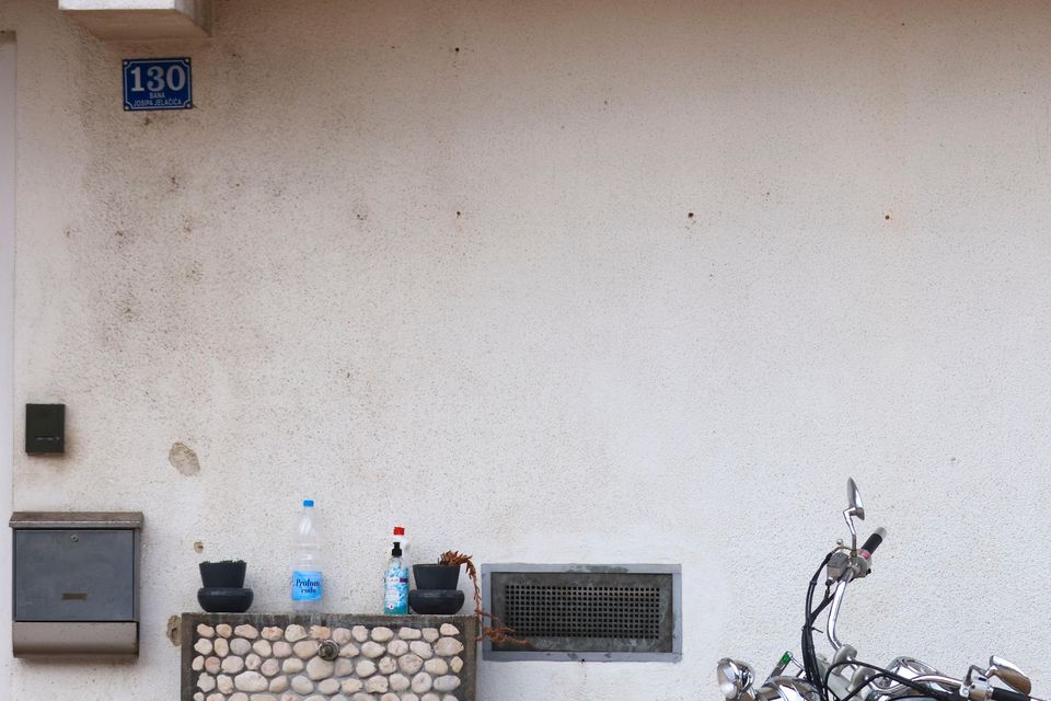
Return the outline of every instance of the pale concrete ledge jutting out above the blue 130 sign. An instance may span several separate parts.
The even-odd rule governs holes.
[[[106,41],[211,34],[211,0],[59,0],[58,9]]]

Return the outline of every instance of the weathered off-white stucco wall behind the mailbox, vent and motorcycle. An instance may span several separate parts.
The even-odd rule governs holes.
[[[394,524],[681,562],[681,664],[486,664],[480,698],[715,699],[720,655],[797,647],[848,474],[890,537],[842,636],[1051,693],[1047,3],[229,0],[138,45],[55,5],[0,0],[15,402],[69,422],[14,505],[145,512],[143,640],[15,660],[12,698],[175,698],[197,562],[284,608],[312,495],[342,611]],[[122,111],[149,55],[195,110]]]

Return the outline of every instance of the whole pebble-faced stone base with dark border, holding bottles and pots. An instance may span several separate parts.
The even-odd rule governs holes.
[[[472,616],[183,613],[180,698],[475,701],[476,636]]]

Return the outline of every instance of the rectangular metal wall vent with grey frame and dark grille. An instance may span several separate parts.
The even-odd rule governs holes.
[[[485,639],[483,659],[682,659],[682,565],[483,564],[482,599],[529,640]]]

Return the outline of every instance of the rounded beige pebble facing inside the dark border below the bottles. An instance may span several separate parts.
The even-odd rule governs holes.
[[[319,656],[323,641],[334,660]],[[472,641],[473,642],[473,641]],[[460,701],[463,634],[439,628],[197,625],[194,701]]]

